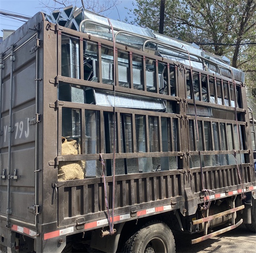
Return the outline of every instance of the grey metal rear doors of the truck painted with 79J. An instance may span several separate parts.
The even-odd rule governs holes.
[[[35,32],[23,44],[17,43],[12,57],[4,58],[1,132],[0,135],[0,217],[5,220],[8,209],[10,178],[10,222],[35,225],[35,154],[36,154],[36,43]],[[12,72],[12,75],[11,75]],[[9,126],[10,85],[12,85],[12,127]],[[12,138],[9,144],[9,133]],[[9,167],[10,152],[10,173]]]

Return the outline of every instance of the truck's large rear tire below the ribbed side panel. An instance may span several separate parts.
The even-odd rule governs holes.
[[[125,242],[124,251],[130,253],[173,253],[175,252],[175,241],[172,231],[161,221],[150,221]]]

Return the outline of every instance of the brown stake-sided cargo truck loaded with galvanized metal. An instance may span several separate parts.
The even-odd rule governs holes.
[[[172,231],[198,233],[192,244],[255,232],[244,73],[73,11],[39,12],[0,43],[2,252],[167,253]]]

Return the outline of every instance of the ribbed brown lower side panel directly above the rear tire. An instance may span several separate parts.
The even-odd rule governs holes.
[[[112,207],[111,179],[112,177],[106,178],[109,207]],[[181,180],[178,170],[116,176],[115,215],[132,211],[137,217],[142,210],[150,208],[154,213],[154,207],[163,205],[172,205],[172,210],[177,209],[177,202],[182,198],[181,189],[178,187]],[[63,181],[58,182],[56,186],[59,226],[75,224],[78,219],[90,222],[106,218],[102,178]]]

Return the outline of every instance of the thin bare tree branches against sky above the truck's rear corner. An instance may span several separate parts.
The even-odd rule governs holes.
[[[70,5],[81,5],[84,9],[94,11],[96,13],[103,13],[111,11],[120,3],[119,0],[39,0],[42,6],[46,7],[50,11],[61,9]]]

